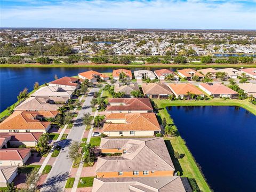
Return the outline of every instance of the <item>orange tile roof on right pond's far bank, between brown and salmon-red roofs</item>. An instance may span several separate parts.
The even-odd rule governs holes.
[[[193,94],[203,95],[204,93],[197,89],[195,85],[192,85],[190,83],[169,83],[168,84],[171,90],[176,93],[177,95],[186,95],[188,91],[190,91]]]

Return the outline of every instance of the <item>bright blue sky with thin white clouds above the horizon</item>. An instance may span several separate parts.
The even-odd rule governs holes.
[[[0,27],[256,29],[256,0],[0,1]]]

